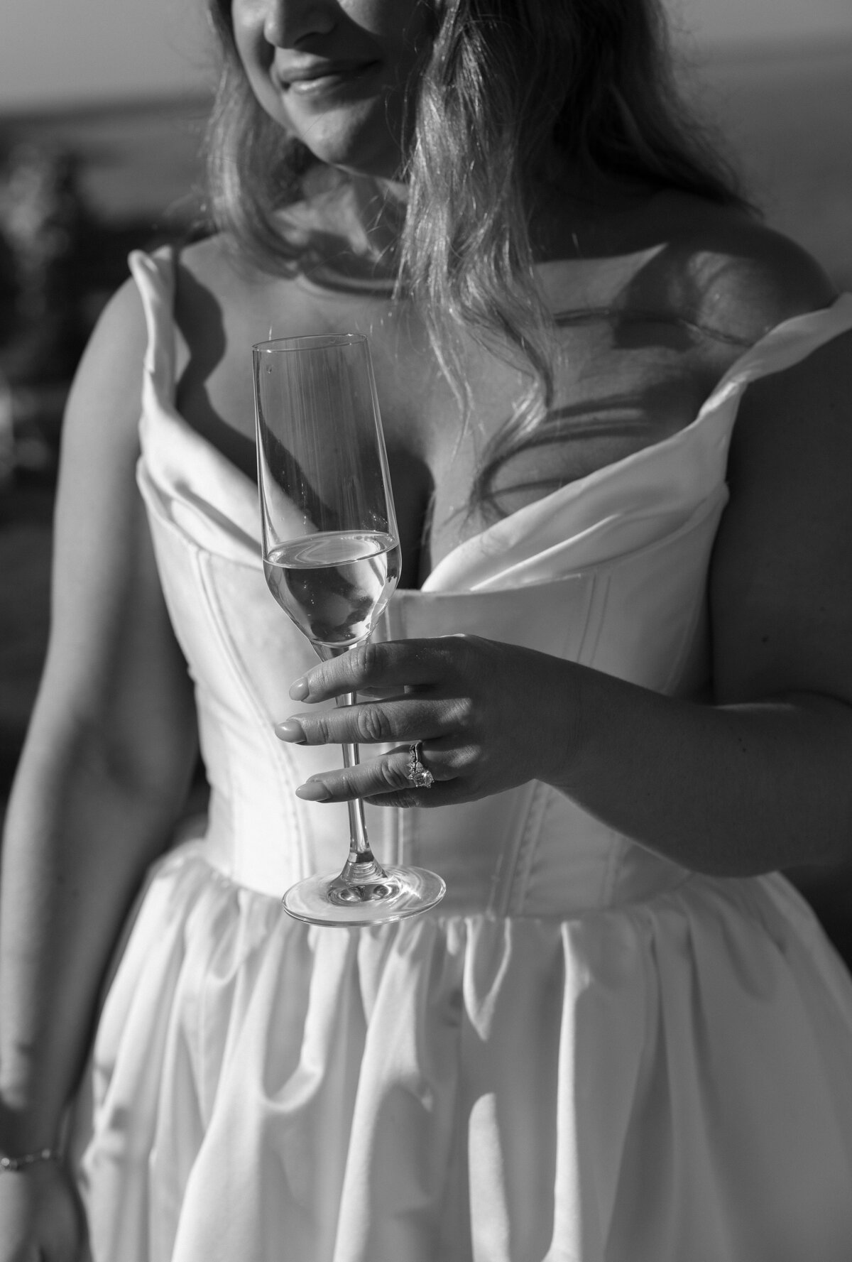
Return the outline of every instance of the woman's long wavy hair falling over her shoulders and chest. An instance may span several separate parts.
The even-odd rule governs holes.
[[[398,292],[420,309],[466,406],[461,345],[473,334],[529,389],[482,456],[472,505],[494,506],[500,466],[553,405],[553,321],[536,284],[530,189],[548,167],[672,188],[748,208],[677,90],[660,0],[424,0],[429,53],[408,102],[411,143]],[[234,42],[230,0],[208,0],[222,66],[208,130],[210,215],[247,257],[293,274],[305,251],[280,211],[317,159],[264,112]]]

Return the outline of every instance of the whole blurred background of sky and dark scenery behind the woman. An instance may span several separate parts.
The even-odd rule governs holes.
[[[852,289],[852,4],[666,0],[682,74],[767,221]],[[199,231],[202,0],[0,18],[0,815],[48,630],[62,410],[126,255]],[[798,876],[852,963],[852,863]]]

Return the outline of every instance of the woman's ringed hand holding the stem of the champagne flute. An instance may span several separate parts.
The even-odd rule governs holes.
[[[312,776],[297,790],[308,801],[446,806],[533,779],[564,782],[576,727],[573,669],[478,636],[365,644],[290,688],[294,700],[308,703],[346,693],[364,700],[304,711],[275,732],[302,745],[399,742],[358,766]],[[429,789],[414,789],[408,777],[414,741],[423,742],[423,764],[434,776]]]

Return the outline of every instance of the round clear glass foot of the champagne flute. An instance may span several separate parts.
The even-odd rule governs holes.
[[[377,868],[366,881],[345,881],[333,876],[309,876],[292,886],[284,910],[295,920],[311,925],[380,925],[405,920],[441,902],[447,886],[427,868]]]

